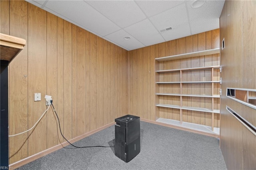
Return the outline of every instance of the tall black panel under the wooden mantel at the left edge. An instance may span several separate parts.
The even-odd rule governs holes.
[[[8,169],[8,61],[0,61],[0,166]]]

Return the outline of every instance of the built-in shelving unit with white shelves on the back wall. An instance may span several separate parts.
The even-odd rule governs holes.
[[[168,57],[161,57],[156,58],[156,115],[159,115],[160,108],[172,108],[176,111],[180,111],[180,120],[174,120],[174,119],[166,119],[161,116],[157,116],[156,121],[160,121],[162,123],[168,123],[171,125],[178,125],[181,127],[185,127],[190,129],[190,127],[193,127],[192,129],[196,129],[198,131],[202,131],[202,126],[205,126],[208,133],[214,133],[219,135],[219,128],[214,127],[214,114],[220,114],[220,109],[216,107],[216,105],[219,105],[219,88],[220,88],[220,77],[216,76],[216,73],[220,72],[220,66],[202,66],[202,67],[194,67],[194,68],[179,68],[179,69],[159,69],[161,64],[166,63],[170,60],[179,60],[179,59],[185,59],[189,57],[199,57],[204,55],[214,55],[220,53],[220,49],[210,49],[210,50],[204,50],[204,51],[198,51],[193,53],[186,53],[181,55],[173,55]],[[163,67],[162,67],[163,68]],[[195,80],[191,78],[193,75],[193,72],[198,71],[204,71],[207,72],[206,77],[204,77],[202,80]],[[187,72],[191,72],[190,78],[187,78],[188,74]],[[169,78],[168,78],[169,76]],[[170,78],[170,77],[174,78]],[[186,76],[186,78],[184,78]],[[167,81],[166,81],[167,80]],[[169,81],[168,81],[169,80]],[[189,80],[189,81],[188,81]],[[193,85],[194,84],[194,85]],[[187,93],[187,90],[184,89],[184,86],[200,86],[207,88],[205,93],[202,94],[193,94],[193,93]],[[174,90],[174,93],[172,92],[172,86],[176,90]],[[168,90],[168,87],[171,88],[171,90]],[[164,89],[164,90],[161,90]],[[202,90],[201,90],[202,91]],[[207,91],[207,93],[206,93]],[[176,99],[175,104],[168,104],[172,103],[170,102],[170,99],[166,96],[173,97]],[[179,98],[179,99],[178,99]],[[200,101],[202,98],[207,98],[207,101],[210,102],[210,104],[202,104],[203,107],[193,107],[193,106],[187,106],[186,102],[184,100],[197,100]],[[179,101],[178,101],[179,100]],[[217,101],[217,102],[216,102]],[[212,114],[212,125],[206,126],[206,125],[199,125],[195,123],[189,123],[182,120],[182,113],[183,111],[198,111],[198,112],[206,112]],[[179,122],[179,124],[177,124]],[[198,127],[198,128],[196,128]],[[210,127],[210,131],[209,131]],[[203,128],[205,129],[205,128]]]

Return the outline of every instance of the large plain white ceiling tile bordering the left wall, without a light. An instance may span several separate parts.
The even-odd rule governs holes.
[[[48,1],[46,7],[83,27],[93,30],[99,36],[105,36],[120,29],[115,23],[84,1],[64,0],[61,3],[59,1]]]

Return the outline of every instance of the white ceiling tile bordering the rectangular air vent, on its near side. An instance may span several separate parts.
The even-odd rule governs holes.
[[[181,4],[161,14],[150,17],[150,20],[158,31],[168,27],[172,27],[172,29],[179,29],[180,25],[188,23],[187,16],[186,6],[185,4]]]

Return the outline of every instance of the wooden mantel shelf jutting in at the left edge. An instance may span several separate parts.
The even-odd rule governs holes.
[[[26,40],[0,33],[1,60],[11,61],[26,45]]]

